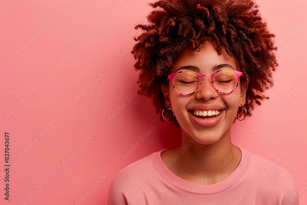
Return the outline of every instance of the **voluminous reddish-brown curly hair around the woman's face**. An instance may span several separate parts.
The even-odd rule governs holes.
[[[141,28],[142,33],[133,37],[138,42],[131,53],[137,60],[134,69],[140,70],[138,93],[151,99],[161,121],[165,108],[161,86],[166,83],[169,68],[187,45],[199,52],[206,41],[216,43],[219,55],[223,46],[238,62],[243,72],[241,84],[248,85],[247,116],[252,116],[256,104],[270,99],[263,93],[273,87],[272,74],[278,66],[275,35],[253,0],[161,0],[149,5],[161,9],[146,16],[150,24],[134,27]],[[237,116],[244,114],[239,107]],[[176,117],[173,123],[180,127]]]

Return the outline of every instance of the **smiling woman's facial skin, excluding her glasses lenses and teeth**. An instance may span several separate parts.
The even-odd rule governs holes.
[[[236,71],[241,71],[235,59],[230,57],[223,47],[222,55],[218,55],[213,41],[207,41],[202,44],[200,46],[200,52],[192,52],[190,47],[186,47],[177,59],[178,60],[170,68],[169,74],[177,73],[179,67],[187,65],[197,66],[199,71],[190,71],[194,71],[200,75],[211,75],[216,72],[213,71],[212,68],[220,64],[227,64],[228,66],[220,67],[219,70],[234,69]],[[181,71],[184,70],[189,71],[189,69],[186,68],[181,69]],[[241,88],[240,81],[237,88],[232,93],[222,94],[214,89],[210,76],[203,76],[201,77],[201,83],[196,93],[184,96],[177,93],[177,91],[173,89],[172,81],[168,80],[167,83],[162,86],[165,106],[170,107],[169,109],[173,109],[176,119],[181,126],[183,135],[191,136],[200,144],[214,144],[219,141],[222,136],[229,135],[230,137],[230,127],[235,120],[238,108],[245,104],[247,88]],[[192,112],[196,110],[222,111],[211,120],[203,120],[193,116]]]

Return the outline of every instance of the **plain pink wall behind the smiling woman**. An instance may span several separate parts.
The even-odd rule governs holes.
[[[81,204],[107,204],[116,173],[180,143],[180,129],[160,122],[149,99],[133,97],[137,73],[130,50],[139,34],[134,25],[146,21],[151,7],[148,1],[122,2],[0,2],[0,170],[6,164],[5,132],[11,164],[9,202],[3,199],[5,172],[0,171],[1,204],[78,204],[80,198]],[[280,157],[278,165],[301,188],[300,204],[307,204],[307,85],[302,81],[307,77],[307,3],[257,2],[277,35],[280,67],[274,89],[267,92],[271,99],[253,118],[233,125],[232,143],[271,161]],[[114,4],[119,8],[106,18]],[[153,125],[157,129],[140,140]],[[258,132],[251,137],[253,129]],[[140,146],[122,160],[137,141]],[[293,149],[291,142],[297,143]]]

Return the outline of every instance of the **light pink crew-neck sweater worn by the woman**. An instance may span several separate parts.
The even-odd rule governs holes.
[[[240,148],[242,157],[235,171],[223,181],[210,185],[191,183],[173,174],[161,160],[163,150],[128,165],[115,175],[109,205],[299,204],[292,175],[244,148]]]

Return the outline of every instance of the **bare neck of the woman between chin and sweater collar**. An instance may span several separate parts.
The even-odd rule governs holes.
[[[200,144],[183,135],[181,144],[161,152],[161,159],[186,181],[202,185],[220,182],[235,171],[241,160],[241,151],[231,143],[229,133],[214,144]]]

